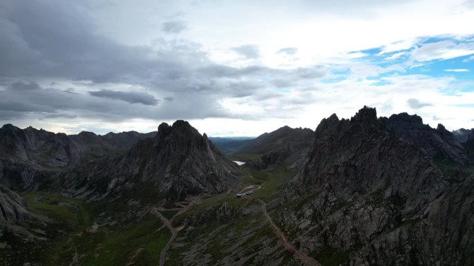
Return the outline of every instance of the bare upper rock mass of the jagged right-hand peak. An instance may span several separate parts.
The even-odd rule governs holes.
[[[435,182],[430,193],[414,196],[425,182]],[[323,120],[295,183],[318,191],[330,184],[331,193],[337,194],[340,202],[356,192],[380,190],[415,202],[410,211],[420,211],[427,196],[439,192],[437,189],[446,182],[419,146],[385,128],[376,119],[375,108],[366,106],[351,120],[337,120],[335,116]]]

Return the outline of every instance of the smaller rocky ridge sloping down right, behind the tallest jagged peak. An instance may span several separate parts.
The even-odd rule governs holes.
[[[387,128],[394,130],[407,142],[419,144],[431,156],[448,158],[457,163],[468,162],[468,155],[464,147],[457,141],[453,133],[447,131],[442,124],[438,124],[436,129],[423,124],[423,120],[418,115],[408,115],[400,113],[392,115],[388,119],[383,119]]]

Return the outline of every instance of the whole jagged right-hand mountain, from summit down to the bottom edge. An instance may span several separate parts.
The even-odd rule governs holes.
[[[421,139],[425,131],[414,132]],[[443,134],[435,131],[430,134]],[[301,249],[323,264],[474,263],[474,177],[445,176],[418,138],[404,135],[410,132],[387,126],[367,107],[351,120],[322,120],[304,167],[279,202],[286,209],[277,220]]]

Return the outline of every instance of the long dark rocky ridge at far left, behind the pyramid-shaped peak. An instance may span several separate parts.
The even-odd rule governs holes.
[[[83,131],[66,135],[6,124],[0,128],[0,182],[8,187],[33,189],[40,185],[35,181],[51,182],[49,178],[64,167],[121,153],[138,140],[155,134],[130,131],[96,135]]]

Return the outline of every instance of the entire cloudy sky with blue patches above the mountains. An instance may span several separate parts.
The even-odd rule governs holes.
[[[474,128],[474,0],[2,0],[0,124],[211,136],[363,106]]]

